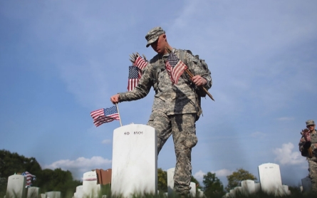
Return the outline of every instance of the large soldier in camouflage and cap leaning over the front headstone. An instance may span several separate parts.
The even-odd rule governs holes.
[[[161,27],[152,28],[145,38],[146,47],[151,46],[157,55],[144,68],[140,82],[133,90],[113,95],[110,100],[113,103],[138,100],[144,98],[151,87],[155,89],[147,125],[154,127],[157,132],[157,154],[172,135],[177,161],[174,188],[177,194],[188,195],[192,176],[192,147],[197,144],[195,121],[200,110],[196,89],[197,86],[204,86],[207,90],[211,88],[212,78],[209,70],[204,70],[191,53],[172,48]],[[165,68],[170,53],[185,63],[194,75],[192,78],[183,73],[177,84],[172,82],[170,72]]]

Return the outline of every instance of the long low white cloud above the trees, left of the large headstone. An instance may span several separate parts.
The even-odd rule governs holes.
[[[100,156],[94,156],[90,159],[85,157],[78,157],[76,160],[58,160],[51,165],[44,165],[44,169],[55,170],[61,168],[61,170],[69,170],[73,173],[74,179],[80,179],[83,177],[83,173],[94,169],[108,169],[111,166],[111,160],[104,159]]]

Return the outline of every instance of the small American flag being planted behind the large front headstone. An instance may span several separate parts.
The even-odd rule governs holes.
[[[98,127],[103,123],[110,123],[113,120],[119,120],[119,113],[116,106],[111,108],[103,108],[99,110],[94,110],[90,113],[93,118],[93,124]]]

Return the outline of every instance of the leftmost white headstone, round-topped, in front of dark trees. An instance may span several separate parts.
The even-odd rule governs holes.
[[[6,197],[24,198],[26,196],[26,177],[14,174],[8,177]]]

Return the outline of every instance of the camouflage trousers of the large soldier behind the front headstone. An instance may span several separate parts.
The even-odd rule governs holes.
[[[175,147],[176,165],[174,189],[177,194],[188,194],[192,177],[192,147],[197,144],[195,114],[166,115],[154,110],[147,125],[157,132],[157,155],[172,135]]]

